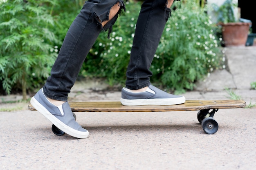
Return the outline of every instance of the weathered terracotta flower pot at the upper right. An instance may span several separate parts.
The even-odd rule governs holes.
[[[222,38],[225,46],[245,46],[251,24],[250,22],[222,23]]]

